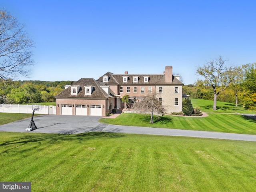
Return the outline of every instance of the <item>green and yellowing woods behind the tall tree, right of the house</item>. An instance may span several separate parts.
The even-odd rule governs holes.
[[[246,110],[256,110],[256,63],[246,64],[239,68],[240,71],[229,86],[222,91],[217,101],[241,104]],[[220,85],[218,89],[222,89]],[[214,90],[211,86],[203,86],[198,80],[194,85],[183,86],[183,93],[190,98],[214,99]]]

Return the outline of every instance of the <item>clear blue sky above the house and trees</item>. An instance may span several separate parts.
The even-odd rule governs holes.
[[[30,78],[77,81],[106,72],[161,74],[185,85],[198,66],[256,62],[255,0],[1,0],[34,40]]]

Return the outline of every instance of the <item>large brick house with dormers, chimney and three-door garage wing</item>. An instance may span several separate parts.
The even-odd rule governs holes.
[[[182,111],[180,76],[166,66],[162,74],[113,74],[107,72],[98,80],[81,78],[56,95],[57,114],[105,116],[112,109],[124,108],[122,96],[129,95],[129,104],[141,101],[143,96],[156,94],[166,113]]]

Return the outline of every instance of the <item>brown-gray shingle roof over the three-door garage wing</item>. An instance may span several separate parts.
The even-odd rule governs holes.
[[[110,89],[110,95],[108,95],[100,86],[106,86],[103,82],[96,81],[94,78],[81,78],[77,82],[74,82],[72,86],[81,86],[82,90],[77,95],[71,95],[71,87],[68,87],[64,91],[60,92],[55,98],[110,98],[114,96],[114,92]],[[84,86],[94,86],[94,90],[91,95],[85,95]]]

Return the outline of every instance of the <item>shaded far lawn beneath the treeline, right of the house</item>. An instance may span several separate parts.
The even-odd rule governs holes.
[[[213,101],[204,99],[191,99],[193,107],[200,107],[202,112],[206,113],[240,113],[240,114],[256,114],[256,111],[244,110],[242,105],[217,101],[216,111],[212,110]]]

